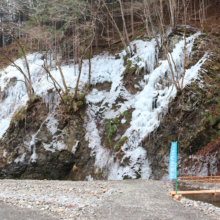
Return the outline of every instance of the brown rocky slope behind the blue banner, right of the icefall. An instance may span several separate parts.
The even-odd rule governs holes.
[[[219,171],[220,93],[216,93],[217,88],[219,91],[218,70],[212,68],[219,63],[219,58],[213,55],[210,60],[203,66],[206,71],[200,80],[185,87],[169,104],[168,114],[143,143],[153,179],[168,178],[170,146],[176,141],[178,175],[207,176]],[[212,78],[217,80],[209,84]],[[203,80],[205,83],[201,87]]]

